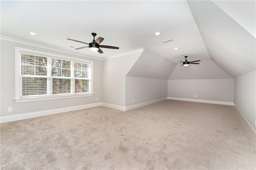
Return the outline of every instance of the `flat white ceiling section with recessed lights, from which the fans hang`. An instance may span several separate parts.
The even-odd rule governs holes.
[[[75,50],[86,44],[66,40],[89,43],[92,32],[120,49]],[[100,58],[141,47],[176,62],[209,58],[186,1],[1,1],[1,35]]]

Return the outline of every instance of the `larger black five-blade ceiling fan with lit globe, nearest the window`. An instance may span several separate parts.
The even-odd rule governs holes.
[[[98,52],[98,53],[103,53],[103,51],[100,49],[101,48],[111,48],[111,49],[119,49],[119,47],[114,47],[114,46],[108,46],[108,45],[100,45],[100,43],[104,40],[104,38],[102,37],[99,37],[95,40],[95,36],[97,34],[96,33],[92,33],[92,36],[93,36],[93,40],[92,42],[90,43],[86,43],[86,42],[80,42],[78,40],[72,40],[70,38],[67,38],[67,40],[71,40],[71,41],[74,41],[74,42],[80,42],[80,43],[85,43],[89,46],[85,46],[85,47],[79,47],[79,48],[76,48],[76,49],[83,49],[83,48],[88,48],[91,50],[91,51],[94,51],[94,52]]]

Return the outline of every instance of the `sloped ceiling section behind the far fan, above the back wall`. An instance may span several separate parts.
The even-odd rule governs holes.
[[[190,64],[188,67],[177,65],[169,79],[232,79],[232,77],[210,59],[204,59],[198,65]]]

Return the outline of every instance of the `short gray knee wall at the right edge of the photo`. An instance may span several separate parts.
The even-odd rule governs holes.
[[[256,130],[256,71],[235,78],[234,103]]]

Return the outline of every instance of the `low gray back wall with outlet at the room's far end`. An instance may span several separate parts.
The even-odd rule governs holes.
[[[234,79],[168,80],[168,97],[233,102]]]

